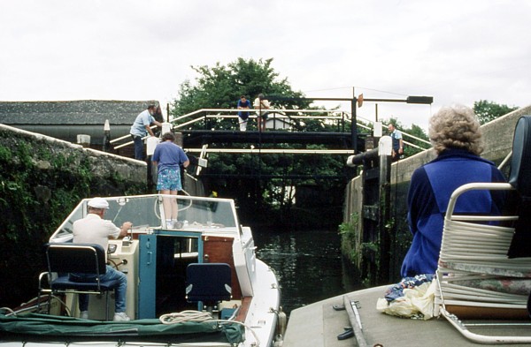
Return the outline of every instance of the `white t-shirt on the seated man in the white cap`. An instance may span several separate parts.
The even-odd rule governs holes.
[[[82,244],[98,244],[107,253],[109,237],[119,238],[120,229],[111,221],[99,215],[89,214],[73,223],[73,242]]]

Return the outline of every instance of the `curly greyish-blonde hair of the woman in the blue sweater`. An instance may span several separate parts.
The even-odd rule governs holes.
[[[483,152],[480,122],[463,105],[443,107],[429,120],[429,140],[437,154],[446,148],[466,149],[474,155]]]

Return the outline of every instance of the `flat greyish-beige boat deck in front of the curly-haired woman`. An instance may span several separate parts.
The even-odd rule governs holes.
[[[390,316],[376,310],[376,301],[383,297],[387,286],[357,290],[345,294],[350,300],[359,302],[366,345],[388,346],[477,346],[462,336],[443,317],[428,321],[411,320]],[[343,347],[357,346],[355,337],[338,340],[337,336],[350,327],[347,311],[336,311],[333,306],[343,305],[343,295],[327,298],[312,305],[293,310],[289,316],[283,347]],[[474,328],[478,334],[496,336],[529,336],[531,329],[525,328]],[[514,346],[514,344],[496,344]],[[524,345],[524,344],[519,344]],[[531,345],[528,343],[527,345]]]

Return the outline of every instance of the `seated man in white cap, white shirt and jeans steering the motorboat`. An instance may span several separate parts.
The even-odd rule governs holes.
[[[91,199],[87,205],[89,214],[85,218],[73,223],[73,242],[102,245],[105,253],[107,253],[109,238],[123,238],[127,236],[127,230],[131,229],[133,224],[125,222],[119,228],[111,221],[104,220],[104,214],[109,208],[109,203],[103,198]],[[113,321],[129,321],[129,317],[126,314],[127,276],[107,265],[107,272],[105,275],[101,275],[100,278],[103,281],[119,280],[119,286],[115,290],[116,298]],[[80,318],[88,319],[89,295],[80,294],[79,300]]]

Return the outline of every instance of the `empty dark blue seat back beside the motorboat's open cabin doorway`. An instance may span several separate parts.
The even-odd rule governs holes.
[[[231,270],[226,263],[193,263],[186,268],[186,298],[211,305],[230,300]]]

